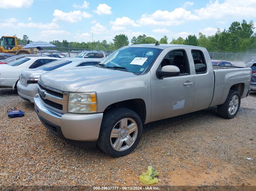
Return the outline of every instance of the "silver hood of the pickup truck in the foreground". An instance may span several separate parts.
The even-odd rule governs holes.
[[[130,76],[135,76],[135,74],[96,66],[84,66],[42,74],[39,82],[61,91],[76,92],[88,84]]]

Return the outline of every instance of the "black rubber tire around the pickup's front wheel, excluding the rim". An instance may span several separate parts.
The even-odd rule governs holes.
[[[138,131],[137,137],[135,138],[134,143],[124,151],[117,151],[111,145],[111,131],[115,127],[115,125],[124,118],[133,119],[137,123]],[[131,153],[138,145],[141,140],[142,135],[142,122],[141,118],[132,110],[127,108],[115,108],[107,113],[103,114],[103,119],[101,122],[101,129],[99,138],[97,140],[98,147],[108,154],[111,157],[122,157],[129,153]]]

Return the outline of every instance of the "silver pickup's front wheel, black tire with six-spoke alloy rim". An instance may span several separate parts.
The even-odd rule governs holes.
[[[137,113],[116,108],[103,115],[97,145],[112,157],[131,153],[140,142],[142,122]]]

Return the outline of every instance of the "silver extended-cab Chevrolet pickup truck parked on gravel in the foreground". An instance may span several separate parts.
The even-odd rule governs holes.
[[[251,68],[212,66],[202,47],[131,45],[99,65],[41,75],[34,102],[56,135],[121,157],[136,148],[145,123],[212,106],[233,118],[250,81]]]

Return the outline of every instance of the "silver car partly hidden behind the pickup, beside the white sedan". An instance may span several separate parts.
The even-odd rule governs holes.
[[[83,58],[59,59],[34,70],[22,70],[17,83],[18,94],[22,99],[34,103],[34,97],[38,94],[37,81],[41,74],[63,68],[97,65],[101,61],[101,59]]]

